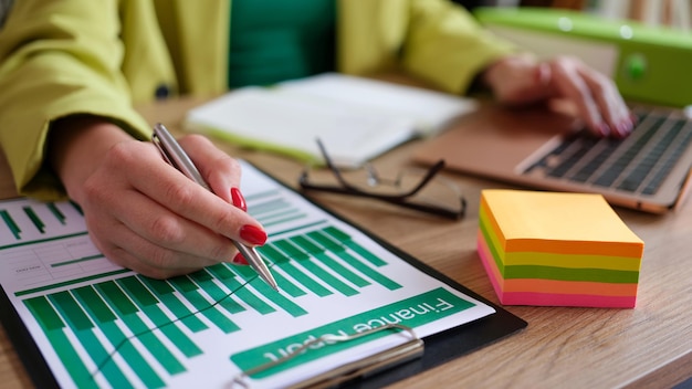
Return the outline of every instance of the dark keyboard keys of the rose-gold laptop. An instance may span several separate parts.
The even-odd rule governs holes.
[[[653,195],[692,141],[692,122],[665,111],[633,111],[639,125],[621,140],[575,134],[524,174]]]

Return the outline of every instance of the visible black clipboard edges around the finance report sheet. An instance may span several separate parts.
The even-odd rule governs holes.
[[[277,181],[271,177],[271,175],[260,169],[258,170],[279,183],[282,188],[287,189],[292,193],[297,193],[293,188]],[[302,197],[302,195],[297,195]],[[377,364],[371,364],[371,366],[377,367],[377,369],[373,371],[365,371],[370,369],[360,369],[363,365],[356,364],[356,366],[342,367],[340,372],[332,371],[332,374],[327,375],[327,378],[329,378],[328,381],[305,382],[306,385],[332,386],[334,382],[338,382],[337,386],[344,388],[379,388],[442,365],[526,327],[527,323],[525,320],[511,314],[501,306],[493,304],[463,285],[437,272],[432,267],[374,235],[371,232],[353,225],[349,221],[337,217],[334,212],[325,209],[321,204],[304,197],[303,199],[307,200],[312,206],[323,212],[352,225],[355,230],[369,236],[369,239],[381,245],[381,248],[397,255],[422,273],[439,280],[454,291],[461,292],[471,298],[491,306],[495,311],[494,314],[489,316],[450,328],[442,333],[426,336],[422,339],[411,337],[411,341],[405,344],[405,349],[401,353],[399,353],[399,350],[388,349],[382,360]],[[42,388],[59,388],[59,382],[49,362],[41,353],[39,345],[25,323],[22,322],[19,313],[15,311],[4,287],[2,287],[2,294],[0,294],[0,319],[34,383]],[[296,358],[300,358],[300,356]],[[374,358],[378,357],[374,356]],[[370,366],[370,364],[367,365]],[[344,377],[348,378],[348,380],[344,380]],[[336,379],[336,381],[334,379]]]

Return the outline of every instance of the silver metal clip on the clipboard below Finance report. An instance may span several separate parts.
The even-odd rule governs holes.
[[[276,360],[266,362],[264,365],[260,365],[255,368],[245,370],[240,372],[233,381],[231,382],[231,387],[238,388],[250,388],[250,385],[247,382],[247,378],[262,372],[264,370],[269,370],[275,366],[286,362],[287,360],[293,359],[298,356],[302,351],[306,350],[310,346],[319,343],[319,341],[349,341],[357,338],[361,338],[375,333],[379,333],[382,330],[401,330],[409,334],[410,339],[403,344],[394,346],[384,351],[379,351],[369,357],[363,358],[360,360],[356,360],[343,366],[339,366],[335,369],[326,371],[324,374],[317,375],[315,377],[308,378],[304,381],[301,381],[296,385],[290,386],[287,388],[298,389],[298,388],[332,388],[349,381],[357,377],[365,377],[378,371],[390,368],[395,365],[399,365],[416,358],[420,358],[423,355],[424,343],[421,338],[416,335],[412,328],[400,325],[400,324],[387,324],[380,327],[371,328],[361,333],[350,334],[350,335],[323,335],[318,338],[312,339],[303,344],[302,347],[297,348],[294,353],[289,354],[282,358]]]

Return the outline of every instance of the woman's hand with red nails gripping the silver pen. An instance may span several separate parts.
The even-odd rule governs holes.
[[[217,195],[165,162],[151,143],[97,118],[65,119],[51,135],[53,167],[98,250],[157,278],[242,263],[231,240],[251,246],[266,240],[244,211],[238,162],[199,135],[180,144]]]

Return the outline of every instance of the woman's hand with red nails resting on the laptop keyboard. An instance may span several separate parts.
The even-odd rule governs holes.
[[[635,125],[612,80],[575,57],[536,62],[528,56],[511,56],[491,65],[482,80],[504,104],[567,99],[597,136],[626,137]]]

